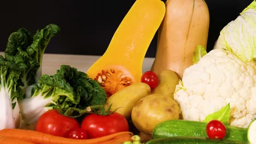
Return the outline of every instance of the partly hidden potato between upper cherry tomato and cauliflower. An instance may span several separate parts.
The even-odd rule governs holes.
[[[155,89],[153,89],[152,93],[168,95],[173,98],[175,87],[179,83],[177,73],[170,69],[162,70],[161,73],[158,74],[158,79],[159,84]]]

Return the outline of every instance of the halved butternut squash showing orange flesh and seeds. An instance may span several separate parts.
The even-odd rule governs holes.
[[[164,15],[164,2],[137,0],[114,33],[106,52],[88,69],[88,76],[101,83],[108,97],[140,81],[143,59]]]

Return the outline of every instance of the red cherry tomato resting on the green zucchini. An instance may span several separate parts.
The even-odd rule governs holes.
[[[206,126],[206,133],[211,139],[223,139],[226,135],[226,127],[222,122],[212,120]]]

